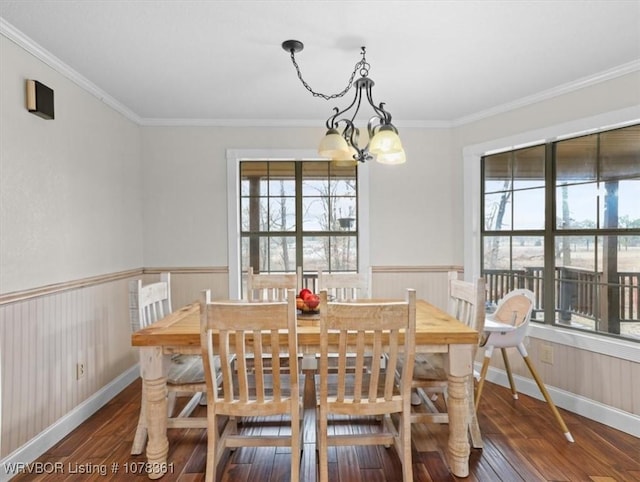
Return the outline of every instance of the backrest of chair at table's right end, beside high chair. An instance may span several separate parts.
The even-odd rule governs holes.
[[[478,278],[473,283],[458,279],[458,273],[449,273],[448,313],[465,325],[481,333],[485,319],[485,280]]]

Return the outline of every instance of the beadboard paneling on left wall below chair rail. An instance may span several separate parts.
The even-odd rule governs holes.
[[[128,278],[96,283],[0,305],[0,458],[137,362]]]

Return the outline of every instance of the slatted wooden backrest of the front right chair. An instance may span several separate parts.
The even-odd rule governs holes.
[[[352,303],[330,303],[327,292],[321,291],[320,403],[331,406],[330,411],[363,415],[400,412],[407,408],[415,329],[415,290],[407,291],[406,301]],[[337,383],[334,386],[332,380],[330,394],[329,358],[335,354],[338,355]],[[398,393],[394,386],[400,354],[404,362]],[[348,363],[347,358],[350,358]],[[386,366],[382,360],[386,360]]]

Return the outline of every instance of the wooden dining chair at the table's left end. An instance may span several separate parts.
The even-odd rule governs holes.
[[[132,331],[146,328],[164,318],[171,309],[171,275],[161,273],[160,281],[142,285],[142,280],[129,282],[129,313]],[[142,374],[141,374],[142,375]],[[174,355],[167,374],[167,427],[205,428],[206,418],[190,417],[199,402],[204,401],[206,384],[200,355]],[[174,416],[178,396],[189,396],[184,408]],[[141,454],[147,441],[146,392],[142,385],[140,415],[131,453]]]

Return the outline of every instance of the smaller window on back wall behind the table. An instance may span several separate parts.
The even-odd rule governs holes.
[[[358,271],[357,166],[241,161],[241,269]]]

